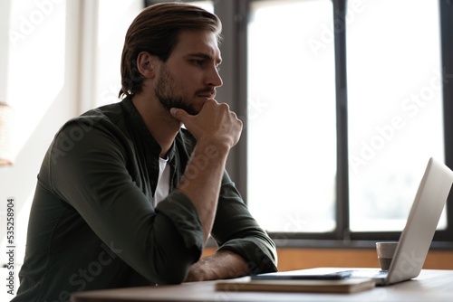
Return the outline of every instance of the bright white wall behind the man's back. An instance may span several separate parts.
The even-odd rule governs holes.
[[[28,215],[43,155],[67,119],[117,100],[124,34],[142,3],[0,3],[0,100],[13,107],[15,121],[14,165],[0,167],[0,265],[8,263],[6,252],[11,250],[6,241],[6,203],[13,198],[14,292],[19,286],[17,273],[24,260]],[[8,273],[8,269],[0,269],[2,301],[12,298],[6,287]]]

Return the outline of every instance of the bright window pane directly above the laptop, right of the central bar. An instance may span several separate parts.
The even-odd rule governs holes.
[[[429,156],[445,156],[439,3],[365,1],[347,31],[351,230],[400,231]]]

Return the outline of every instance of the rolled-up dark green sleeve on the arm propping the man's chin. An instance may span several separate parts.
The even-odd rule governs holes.
[[[47,156],[51,190],[143,277],[180,283],[203,249],[197,211],[178,191],[154,209],[128,170],[135,156],[129,146],[113,125],[68,123]]]

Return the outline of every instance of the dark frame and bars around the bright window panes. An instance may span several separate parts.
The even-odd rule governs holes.
[[[244,122],[241,140],[231,150],[226,169],[235,180],[244,201],[247,201],[247,17],[249,7],[255,1],[265,0],[216,0],[214,12],[222,20],[223,42],[220,50],[223,56],[221,76],[224,86],[217,92],[219,101],[228,102],[231,109]],[[439,25],[441,64],[443,77],[444,146],[445,163],[453,168],[453,3],[439,1]],[[145,4],[164,1],[145,0]],[[185,1],[190,2],[190,1]],[[348,167],[348,98],[346,71],[346,25],[344,24],[347,0],[332,0],[335,53],[335,86],[337,110],[337,192],[336,192],[336,229],[332,232],[269,232],[279,247],[327,247],[327,248],[370,248],[375,241],[398,241],[400,231],[349,230],[349,167]],[[409,7],[408,7],[409,9]],[[384,20],[383,20],[384,22]],[[451,79],[450,79],[451,78]],[[453,191],[453,190],[452,190]],[[447,229],[436,231],[432,248],[453,250],[453,193],[447,201]]]

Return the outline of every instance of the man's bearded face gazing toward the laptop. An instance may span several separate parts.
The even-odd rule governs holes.
[[[162,63],[154,92],[165,109],[185,109],[196,115],[222,86],[220,51],[214,33],[183,31],[169,60]]]

